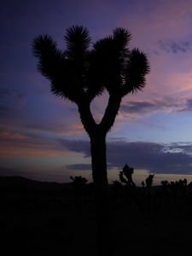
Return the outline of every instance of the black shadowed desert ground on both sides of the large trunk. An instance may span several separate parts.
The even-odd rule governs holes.
[[[91,187],[91,186],[90,186]],[[1,255],[96,255],[96,206],[89,184],[77,201],[72,183],[0,177]],[[127,195],[109,188],[113,255],[192,255],[192,197],[152,188]]]

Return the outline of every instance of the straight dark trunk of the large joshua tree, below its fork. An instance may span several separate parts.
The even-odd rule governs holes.
[[[109,216],[108,216],[108,173],[106,158],[106,134],[97,131],[90,137],[90,151],[92,161],[92,175],[96,194],[97,214],[97,253],[108,255]]]

